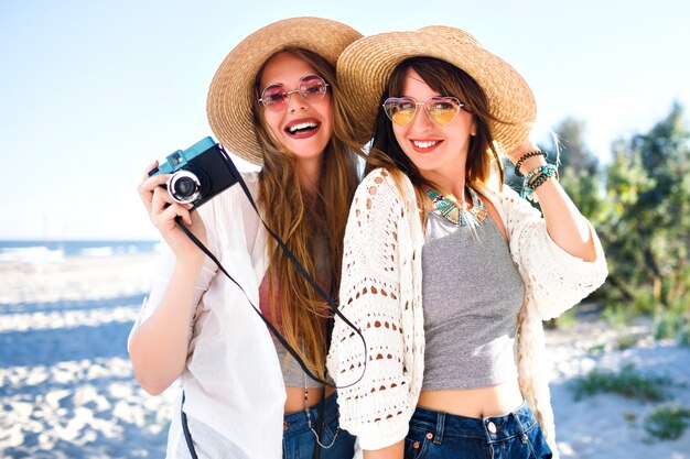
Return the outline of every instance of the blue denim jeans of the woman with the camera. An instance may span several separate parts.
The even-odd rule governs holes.
[[[321,416],[317,406],[310,408],[309,412],[314,430],[316,430],[316,423]],[[323,412],[325,416],[324,425],[319,438],[321,445],[324,446],[321,448],[321,458],[352,459],[355,453],[355,437],[349,435],[347,430],[338,428],[336,393],[333,393],[324,401]],[[312,459],[316,436],[309,428],[306,412],[302,411],[285,415],[283,429],[283,459]]]

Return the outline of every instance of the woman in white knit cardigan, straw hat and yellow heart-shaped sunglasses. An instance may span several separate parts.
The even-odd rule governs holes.
[[[366,459],[557,457],[541,320],[601,285],[606,263],[528,140],[529,87],[448,26],[362,39],[338,80],[358,102],[360,141],[374,132],[339,295],[369,360],[339,391],[341,424]],[[503,185],[504,152],[543,216]],[[362,358],[336,319],[338,385]]]

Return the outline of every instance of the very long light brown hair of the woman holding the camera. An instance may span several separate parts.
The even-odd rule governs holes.
[[[298,179],[294,154],[273,138],[263,119],[263,106],[258,101],[261,97],[263,64],[256,77],[252,106],[256,134],[263,155],[258,201],[269,228],[282,239],[306,272],[319,281],[324,280],[320,280],[320,273],[316,272],[315,258],[319,254],[314,253],[314,241],[319,237],[325,238],[330,266],[330,278],[325,281],[331,282],[330,293],[335,298],[341,278],[345,225],[359,182],[357,154],[347,141],[354,128],[349,121],[349,110],[341,97],[335,68],[308,50],[285,48],[276,54],[280,53],[290,53],[305,61],[328,83],[333,135],[323,153],[316,196],[310,197]],[[306,367],[323,379],[327,348],[324,318],[332,316],[332,313],[270,237],[268,253],[271,317],[281,317],[279,329],[287,341],[298,351]]]

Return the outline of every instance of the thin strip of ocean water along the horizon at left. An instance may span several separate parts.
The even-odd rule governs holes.
[[[160,241],[0,241],[0,263],[50,263],[72,256],[155,252]]]

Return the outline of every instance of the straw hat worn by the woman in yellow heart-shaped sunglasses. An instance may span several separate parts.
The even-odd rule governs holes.
[[[369,141],[380,98],[395,67],[408,57],[445,61],[467,73],[484,89],[489,112],[515,124],[489,122],[506,152],[524,141],[537,114],[535,97],[508,63],[492,54],[467,32],[432,25],[416,32],[389,32],[366,36],[349,45],[337,64],[343,92],[352,99],[362,144]]]

